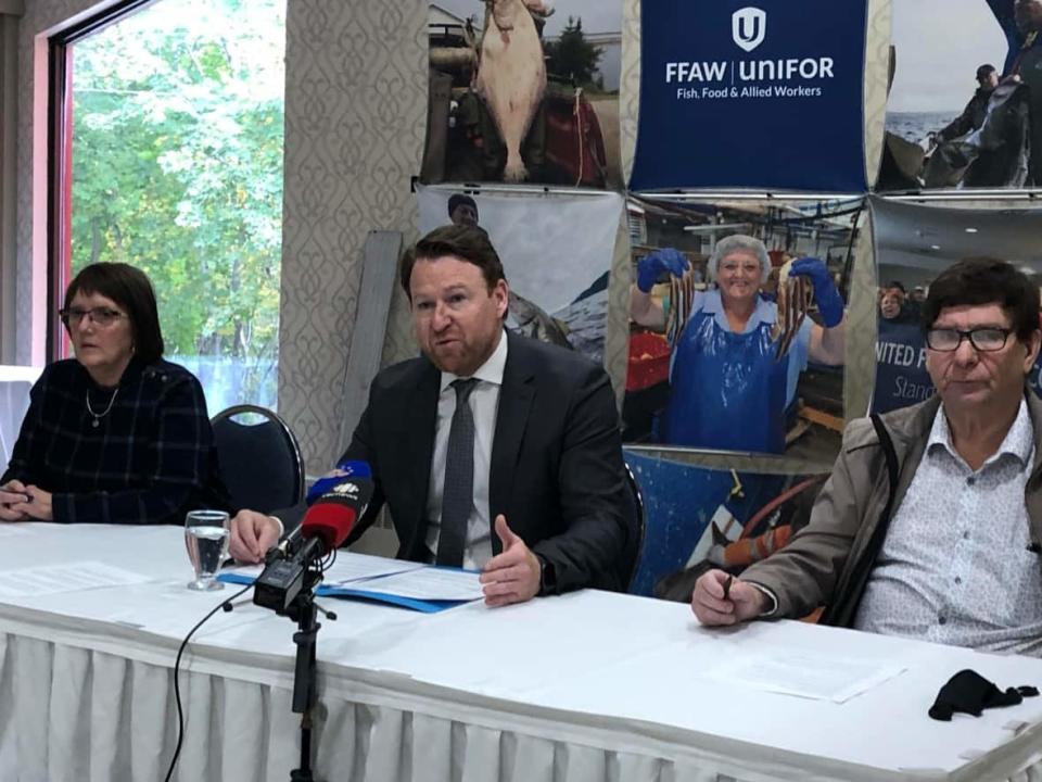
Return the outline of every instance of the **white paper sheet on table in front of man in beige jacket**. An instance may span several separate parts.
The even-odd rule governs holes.
[[[841,704],[904,672],[878,660],[786,653],[741,656],[707,671],[712,679],[764,692]]]

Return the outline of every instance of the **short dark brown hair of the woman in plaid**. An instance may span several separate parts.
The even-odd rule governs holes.
[[[125,263],[96,263],[73,277],[65,291],[65,308],[77,293],[99,293],[127,312],[134,335],[134,353],[145,364],[163,357],[163,332],[155,305],[155,291],[144,272]],[[67,326],[65,327],[68,328]]]

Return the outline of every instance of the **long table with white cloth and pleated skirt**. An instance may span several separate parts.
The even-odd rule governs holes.
[[[149,581],[0,597],[4,782],[163,779],[176,741],[177,646],[231,594],[185,588],[176,528],[0,525],[0,577],[82,560]],[[707,630],[687,606],[597,591],[433,615],[327,605],[340,616],[318,636],[319,779],[1042,779],[1042,698],[946,723],[927,717],[956,671],[1040,684],[1039,659],[790,621]],[[245,602],[200,630],[183,660],[175,779],[289,779],[298,759],[294,629]],[[714,676],[765,651],[905,670],[842,704]]]

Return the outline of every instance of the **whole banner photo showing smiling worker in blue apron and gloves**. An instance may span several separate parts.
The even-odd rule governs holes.
[[[634,250],[623,439],[834,457],[862,200],[634,206],[669,244]]]

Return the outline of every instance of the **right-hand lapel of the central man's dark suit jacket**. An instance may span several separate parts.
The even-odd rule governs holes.
[[[501,550],[495,533],[496,515],[507,513],[513,476],[529,422],[532,401],[535,399],[535,374],[526,361],[528,354],[521,340],[507,332],[507,364],[503,370],[499,388],[499,409],[496,414],[496,433],[492,443],[492,465],[488,476],[488,521],[493,525],[492,551]],[[509,518],[508,518],[509,520]]]

